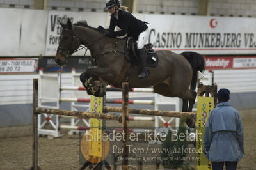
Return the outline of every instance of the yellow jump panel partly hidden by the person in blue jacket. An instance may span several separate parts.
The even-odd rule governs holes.
[[[211,162],[204,155],[204,130],[206,121],[209,117],[209,113],[214,109],[214,98],[213,97],[200,97],[197,98],[197,112],[196,112],[196,128],[197,141],[196,141],[196,166],[197,170],[212,169]]]

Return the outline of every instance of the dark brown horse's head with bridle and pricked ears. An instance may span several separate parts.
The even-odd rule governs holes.
[[[72,22],[70,19],[68,19],[67,24],[60,22],[60,25],[63,27],[63,29],[60,35],[55,62],[61,66],[65,65],[68,56],[72,55],[79,48],[80,40],[74,35]]]

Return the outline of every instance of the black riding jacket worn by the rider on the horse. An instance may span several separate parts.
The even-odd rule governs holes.
[[[118,19],[111,15],[108,36],[123,36],[127,33],[127,36],[137,39],[140,33],[148,28],[145,23],[147,22],[138,20],[131,13],[119,9]],[[114,31],[116,26],[120,27],[121,30]]]

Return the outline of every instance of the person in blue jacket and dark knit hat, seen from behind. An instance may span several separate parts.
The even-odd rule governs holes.
[[[213,170],[236,170],[237,162],[243,158],[243,123],[239,112],[231,107],[228,89],[217,93],[218,104],[210,114],[205,127],[204,150],[212,162]]]

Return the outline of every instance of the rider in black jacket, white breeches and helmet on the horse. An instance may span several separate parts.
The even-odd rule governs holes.
[[[146,69],[147,54],[143,48],[149,36],[149,29],[145,24],[147,22],[138,20],[131,13],[121,10],[119,0],[106,0],[105,9],[108,9],[108,12],[111,14],[110,26],[106,35],[116,37],[124,36],[127,33],[127,36],[132,36],[137,40],[137,54],[141,63],[141,71],[138,77],[148,77]],[[120,27],[121,30],[114,31],[115,26]]]

